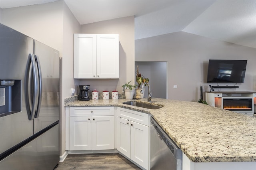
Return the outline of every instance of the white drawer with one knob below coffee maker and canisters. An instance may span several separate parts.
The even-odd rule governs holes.
[[[114,107],[70,107],[70,116],[114,116]]]

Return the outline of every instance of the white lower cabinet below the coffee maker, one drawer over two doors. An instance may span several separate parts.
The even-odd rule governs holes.
[[[69,138],[70,150],[114,149],[114,107],[71,107]]]

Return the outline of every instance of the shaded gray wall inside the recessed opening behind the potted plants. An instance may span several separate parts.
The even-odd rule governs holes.
[[[166,99],[167,96],[167,76],[166,76],[166,62],[148,62],[135,61],[135,71],[139,66],[139,73],[149,79],[150,90],[152,97]],[[136,75],[136,74],[135,74]],[[138,83],[135,83],[138,85]],[[141,87],[140,87],[141,88]],[[148,97],[148,87],[145,87],[144,98]]]

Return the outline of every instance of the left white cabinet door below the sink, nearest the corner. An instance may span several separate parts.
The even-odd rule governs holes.
[[[124,118],[117,117],[117,150],[130,158],[131,156],[131,133],[130,121]]]

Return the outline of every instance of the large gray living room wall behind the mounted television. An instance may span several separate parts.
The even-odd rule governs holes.
[[[255,56],[255,48],[186,32],[135,40],[135,61],[166,61],[168,63],[168,99],[198,101],[201,82],[204,92],[210,90],[208,85],[217,85],[206,83],[209,59],[247,59],[245,82],[238,83],[238,89],[219,90],[256,91]],[[174,89],[173,85],[177,85],[177,89]],[[219,83],[219,85],[234,85],[234,83]]]

